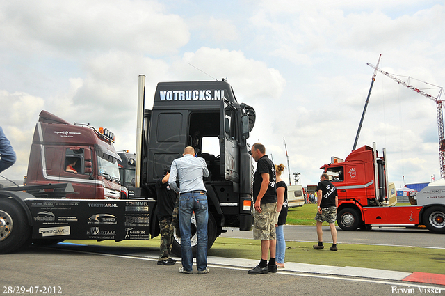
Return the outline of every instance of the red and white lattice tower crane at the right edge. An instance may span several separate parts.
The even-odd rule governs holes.
[[[440,162],[440,178],[445,178],[445,137],[444,137],[444,116],[442,112],[442,106],[444,105],[444,100],[440,100],[440,95],[444,92],[444,88],[440,86],[436,86],[434,84],[429,84],[428,82],[424,82],[425,84],[429,84],[430,86],[435,86],[440,89],[439,94],[437,97],[434,97],[424,91],[421,91],[419,88],[415,88],[414,86],[410,85],[410,77],[408,77],[407,82],[398,79],[397,77],[394,77],[394,75],[389,74],[388,72],[385,72],[378,68],[378,65],[372,65],[368,63],[369,67],[374,68],[378,72],[382,73],[383,75],[395,80],[398,84],[402,84],[403,86],[406,86],[407,88],[410,88],[412,91],[415,91],[416,93],[419,93],[426,98],[433,100],[436,102],[437,107],[437,131],[439,133],[439,162]],[[399,75],[400,76],[400,75]]]

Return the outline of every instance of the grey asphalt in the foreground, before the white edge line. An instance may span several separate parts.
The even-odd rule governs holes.
[[[1,255],[0,293],[12,294],[10,289],[23,287],[26,292],[21,295],[31,295],[32,287],[33,295],[47,295],[51,290],[56,291],[51,294],[57,295],[355,296],[393,295],[394,289],[413,289],[420,294],[420,289],[431,287],[401,281],[281,271],[248,275],[245,268],[214,265],[209,265],[209,274],[179,274],[179,264],[158,266],[156,258],[149,258],[147,254],[131,254],[131,248],[118,249],[120,251],[116,252],[100,247],[30,247],[18,253]],[[89,252],[93,250],[99,254]],[[445,293],[444,286],[433,288]]]

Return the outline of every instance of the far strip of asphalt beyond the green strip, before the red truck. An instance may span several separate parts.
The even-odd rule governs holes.
[[[322,226],[323,241],[332,242],[329,226]],[[252,231],[227,228],[220,237],[252,238]],[[286,240],[317,242],[316,226],[286,225]],[[339,244],[378,244],[389,246],[431,247],[445,249],[445,235],[431,233],[426,228],[373,227],[371,231],[342,231],[337,227]]]

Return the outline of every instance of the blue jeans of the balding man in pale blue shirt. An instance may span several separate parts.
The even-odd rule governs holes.
[[[209,221],[209,205],[205,192],[186,192],[179,196],[182,266],[188,272],[193,271],[193,254],[190,245],[193,211],[197,233],[196,267],[198,271],[204,271],[207,267],[207,221]]]

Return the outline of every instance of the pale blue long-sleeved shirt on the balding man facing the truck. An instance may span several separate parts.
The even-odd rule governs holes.
[[[173,160],[168,184],[179,194],[193,191],[207,192],[202,176],[210,176],[206,161],[201,157],[185,154],[183,157]],[[179,180],[179,188],[176,185],[176,180]]]

